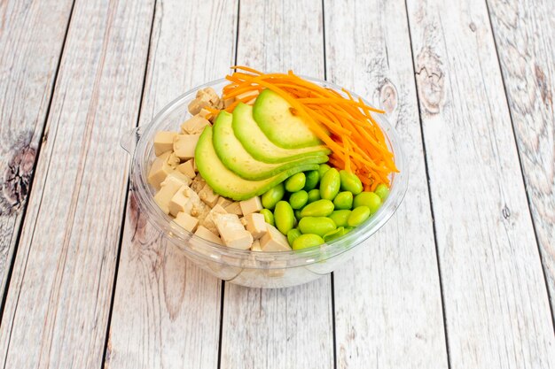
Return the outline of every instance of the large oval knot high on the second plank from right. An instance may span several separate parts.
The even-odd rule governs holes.
[[[428,114],[439,113],[445,97],[445,78],[442,61],[429,48],[418,54],[416,75],[422,110]]]

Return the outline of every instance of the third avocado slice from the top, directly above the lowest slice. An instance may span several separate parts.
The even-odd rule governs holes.
[[[235,137],[231,126],[232,120],[233,117],[229,112],[222,111],[218,114],[212,129],[212,143],[223,165],[245,180],[265,180],[294,166],[321,164],[328,161],[328,157],[322,154],[284,163],[270,164],[258,161],[245,150],[241,142]]]

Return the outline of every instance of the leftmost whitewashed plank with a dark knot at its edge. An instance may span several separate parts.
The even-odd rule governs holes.
[[[20,231],[72,0],[0,6],[0,295]],[[44,19],[49,21],[44,21]],[[29,32],[29,30],[32,30]]]

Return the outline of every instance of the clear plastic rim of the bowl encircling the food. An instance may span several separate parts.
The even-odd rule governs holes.
[[[327,88],[333,88],[341,94],[342,88],[332,82],[320,80],[314,77],[309,77],[305,75],[300,75],[303,79],[317,83],[319,86],[324,86]],[[154,227],[160,232],[166,234],[173,242],[175,242],[181,249],[192,252],[200,258],[211,257],[212,261],[220,262],[223,264],[237,264],[242,263],[231,263],[229,258],[237,258],[239,260],[245,258],[255,258],[259,261],[287,261],[296,262],[298,265],[309,265],[317,262],[321,262],[325,259],[332,258],[355,248],[359,244],[362,244],[365,240],[375,234],[379,228],[383,227],[384,224],[393,216],[397,208],[402,204],[403,198],[406,194],[408,188],[408,177],[409,170],[406,166],[407,161],[405,153],[403,151],[403,144],[401,142],[400,136],[397,134],[395,127],[387,120],[386,114],[373,113],[374,119],[376,119],[379,127],[384,132],[387,139],[387,146],[390,150],[394,152],[395,165],[399,169],[399,173],[391,174],[391,186],[389,195],[387,196],[384,203],[379,207],[379,210],[374,213],[370,219],[366,220],[363,225],[355,227],[353,230],[348,232],[332,242],[324,242],[319,246],[304,250],[288,250],[288,251],[252,251],[252,250],[238,250],[231,249],[225,245],[220,245],[215,242],[209,242],[192,232],[185,230],[184,228],[178,226],[172,218],[161,211],[158,204],[154,202],[152,196],[152,187],[146,181],[146,176],[148,169],[150,169],[151,161],[149,160],[149,153],[152,153],[153,144],[151,138],[152,130],[159,127],[161,122],[164,121],[172,112],[176,111],[176,108],[182,106],[184,103],[188,103],[194,98],[196,92],[201,88],[215,87],[227,82],[225,78],[217,79],[214,81],[208,81],[202,85],[192,88],[185,92],[184,94],[177,96],[171,103],[164,106],[154,118],[147,124],[137,127],[136,129],[136,139],[137,144],[135,150],[133,150],[131,158],[131,170],[129,173],[129,179],[132,182],[131,188],[135,189],[136,195],[138,197],[137,205],[141,211],[145,211],[148,214],[147,219]],[[351,91],[348,91],[353,97],[361,97],[364,104],[369,104],[362,96],[357,95]],[[345,95],[344,95],[345,96]],[[150,147],[149,147],[150,143]],[[149,190],[150,188],[150,190]],[[190,244],[194,242],[194,247]],[[204,249],[204,250],[199,250]],[[215,255],[225,255],[228,261],[224,262],[222,259],[216,258]]]

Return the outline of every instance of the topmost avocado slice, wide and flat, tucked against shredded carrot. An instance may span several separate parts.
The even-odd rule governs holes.
[[[282,148],[298,149],[321,144],[305,120],[293,115],[292,108],[283,97],[266,88],[254,101],[253,117],[264,135]]]

